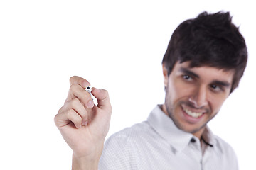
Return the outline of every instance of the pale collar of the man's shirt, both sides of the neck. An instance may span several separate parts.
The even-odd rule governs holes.
[[[193,134],[178,129],[174,121],[161,110],[161,106],[156,106],[147,120],[151,127],[178,152],[183,150],[193,138]],[[209,128],[203,132],[203,137],[211,145],[215,144],[213,133]]]

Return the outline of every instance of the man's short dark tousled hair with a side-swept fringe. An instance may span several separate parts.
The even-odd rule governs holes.
[[[230,93],[238,86],[247,63],[247,47],[230,13],[203,12],[174,30],[162,64],[168,75],[176,62],[190,61],[190,67],[210,66],[234,69]]]

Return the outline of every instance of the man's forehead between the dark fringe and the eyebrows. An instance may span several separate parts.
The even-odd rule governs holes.
[[[191,72],[201,79],[214,79],[219,81],[228,81],[229,83],[233,81],[235,74],[234,69],[224,70],[210,66],[190,67],[190,62],[176,62],[173,72],[176,74]]]

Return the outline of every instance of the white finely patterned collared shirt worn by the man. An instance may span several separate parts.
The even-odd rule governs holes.
[[[200,140],[174,125],[159,106],[142,123],[112,135],[99,169],[237,170],[235,152],[209,128]],[[203,151],[202,149],[203,148]]]

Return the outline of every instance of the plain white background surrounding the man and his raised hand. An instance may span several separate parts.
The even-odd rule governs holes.
[[[73,75],[109,91],[109,135],[145,120],[164,102],[161,60],[174,29],[220,10],[240,26],[249,61],[210,128],[233,146],[240,169],[256,169],[255,5],[231,0],[0,1],[0,169],[70,169],[53,118]]]

